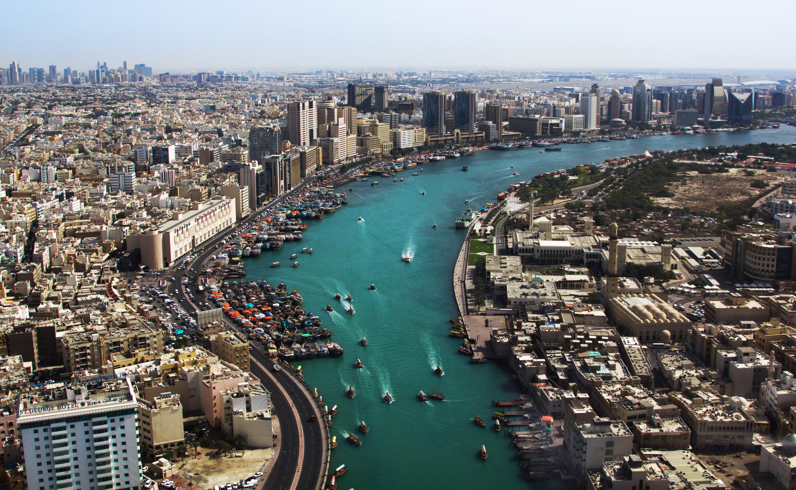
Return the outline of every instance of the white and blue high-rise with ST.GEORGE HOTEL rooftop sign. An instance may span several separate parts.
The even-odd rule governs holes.
[[[128,379],[111,379],[22,394],[17,428],[28,490],[138,490],[134,390]]]

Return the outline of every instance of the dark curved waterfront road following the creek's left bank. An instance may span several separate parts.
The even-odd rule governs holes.
[[[325,173],[329,173],[331,170],[329,169]],[[268,206],[253,212],[248,218],[241,220],[236,227],[233,227],[223,235],[219,235],[205,243],[201,247],[203,251],[187,265],[185,271],[163,270],[162,278],[170,276],[177,279],[176,281],[171,281],[166,287],[167,293],[181,299],[178,304],[189,313],[191,310],[201,309],[197,308],[186,296],[181,279],[185,275],[196,275],[197,273],[190,272],[190,269],[201,270],[202,264],[209,259],[210,255],[217,254],[218,249],[222,247],[220,242],[226,236],[236,236],[246,226],[259,219],[263,213],[278,208],[279,204],[287,200],[292,194],[313,183],[314,181],[306,181]],[[191,282],[190,286],[193,286],[193,282]],[[205,302],[203,294],[194,294],[196,301]],[[234,326],[230,326],[230,328],[238,331]],[[265,479],[259,483],[257,488],[267,488],[269,490],[322,488],[326,481],[326,455],[329,451],[329,440],[326,427],[321,425],[324,422],[318,404],[314,401],[310,391],[294,375],[284,369],[273,370],[274,361],[266,355],[262,346],[250,345],[253,348],[249,352],[250,370],[260,379],[263,387],[271,393],[271,402],[274,406],[274,414],[272,415],[279,418],[279,430],[281,433],[276,441],[274,459],[267,468]],[[313,414],[317,420],[308,422],[308,419]]]

